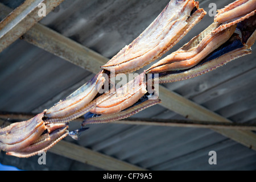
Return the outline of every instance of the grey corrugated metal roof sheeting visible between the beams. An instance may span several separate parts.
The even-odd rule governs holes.
[[[7,6],[16,7],[18,1]],[[14,1],[12,1],[14,2]],[[211,1],[200,1],[209,11]],[[214,1],[218,9],[233,1]],[[65,0],[41,23],[94,51],[111,58],[129,44],[167,5],[164,1]],[[170,52],[183,46],[212,23],[206,15]],[[207,107],[234,122],[256,123],[254,53],[190,80],[166,88]],[[38,113],[68,96],[92,73],[23,40],[0,53],[0,111]],[[137,118],[185,119],[160,105],[138,113]],[[135,126],[107,123],[90,125],[79,144],[114,158],[152,170],[255,170],[256,152],[209,129]],[[71,129],[77,128],[77,123]],[[209,151],[217,152],[217,165],[209,165]],[[37,158],[18,159],[1,152],[0,162],[21,169],[98,168],[47,153],[47,165]]]

